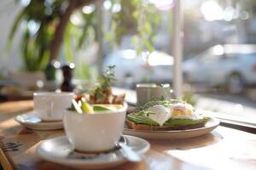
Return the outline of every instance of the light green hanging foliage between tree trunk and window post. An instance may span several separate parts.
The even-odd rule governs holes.
[[[110,24],[110,31],[105,38],[111,42],[113,48],[119,48],[121,37],[133,35],[132,42],[138,53],[143,51],[154,51],[154,30],[160,23],[160,15],[154,4],[143,0],[112,0],[114,10],[116,4],[121,10],[113,13]]]

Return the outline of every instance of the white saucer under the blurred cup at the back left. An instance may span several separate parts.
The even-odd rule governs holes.
[[[55,130],[63,128],[63,122],[42,122],[34,111],[15,116],[15,121],[35,130]]]

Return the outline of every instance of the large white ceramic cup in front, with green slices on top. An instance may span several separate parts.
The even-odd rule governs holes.
[[[121,137],[126,110],[127,105],[119,111],[99,111],[95,114],[64,111],[63,122],[67,138],[75,150],[112,150]]]

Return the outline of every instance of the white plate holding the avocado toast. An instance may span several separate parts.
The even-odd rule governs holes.
[[[219,121],[216,118],[210,118],[205,127],[194,128],[189,130],[173,130],[173,131],[150,131],[150,130],[133,130],[125,127],[124,134],[137,136],[143,139],[189,139],[198,137],[218,127]]]

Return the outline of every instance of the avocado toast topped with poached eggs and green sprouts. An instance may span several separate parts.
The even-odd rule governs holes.
[[[209,120],[184,101],[150,101],[126,117],[135,130],[185,130],[204,127]]]

